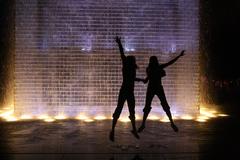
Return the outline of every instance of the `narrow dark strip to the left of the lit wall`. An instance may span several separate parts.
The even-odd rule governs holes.
[[[6,93],[13,88],[14,0],[0,0],[0,106],[7,101]]]

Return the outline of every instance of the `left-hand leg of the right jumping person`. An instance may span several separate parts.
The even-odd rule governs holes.
[[[145,124],[146,124],[146,120],[148,117],[148,114],[150,113],[152,107],[152,100],[154,97],[154,93],[151,90],[147,90],[147,94],[146,94],[146,102],[145,102],[145,107],[143,109],[143,120],[142,120],[142,125],[140,126],[140,128],[138,129],[138,132],[142,132],[145,128]]]

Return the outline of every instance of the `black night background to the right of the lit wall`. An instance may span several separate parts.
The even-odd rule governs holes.
[[[200,0],[203,99],[240,115],[240,1]],[[225,83],[226,82],[226,83]]]

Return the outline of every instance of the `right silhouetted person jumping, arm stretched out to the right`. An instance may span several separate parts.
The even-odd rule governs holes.
[[[176,62],[178,58],[180,58],[183,55],[184,55],[184,50],[180,53],[179,56],[177,56],[176,58],[174,58],[173,60],[165,64],[159,64],[156,56],[150,57],[149,64],[147,67],[147,78],[145,79],[145,83],[148,82],[148,88],[147,88],[147,94],[146,94],[145,107],[143,109],[143,112],[144,112],[143,121],[142,121],[141,127],[138,129],[138,132],[142,132],[145,128],[145,123],[146,123],[148,114],[152,109],[151,103],[155,95],[157,95],[159,100],[161,101],[163,110],[166,112],[171,122],[171,127],[175,132],[178,131],[177,126],[173,122],[172,115],[170,112],[170,107],[168,105],[168,102],[164,93],[164,89],[162,86],[162,77],[166,76],[166,72],[164,71],[164,68]]]

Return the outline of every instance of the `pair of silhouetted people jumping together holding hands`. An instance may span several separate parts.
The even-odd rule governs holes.
[[[116,42],[118,44],[121,59],[122,59],[123,82],[118,95],[117,107],[113,113],[112,130],[110,131],[109,139],[111,141],[114,141],[114,129],[117,124],[117,120],[120,117],[120,114],[122,112],[125,101],[127,101],[128,103],[128,109],[130,113],[129,119],[131,120],[131,123],[132,123],[131,132],[137,139],[139,139],[140,137],[138,133],[142,132],[145,128],[145,123],[146,123],[148,114],[151,111],[151,103],[155,95],[158,96],[161,102],[162,108],[166,112],[170,120],[171,127],[175,132],[178,132],[178,128],[173,122],[172,115],[170,112],[170,107],[168,105],[168,102],[164,93],[164,89],[162,86],[162,77],[166,76],[164,68],[173,64],[181,56],[183,56],[184,50],[176,58],[164,64],[160,64],[156,56],[151,56],[149,59],[148,67],[146,69],[147,77],[145,79],[141,79],[141,78],[136,78],[136,69],[138,68],[138,66],[136,64],[135,57],[125,56],[120,37],[116,37]],[[141,126],[138,128],[138,130],[136,129],[136,125],[135,125],[135,97],[134,97],[135,81],[137,82],[142,81],[143,83],[148,83],[147,93],[146,93],[146,102],[145,102],[145,107],[143,109],[143,112],[144,112],[143,121]]]

